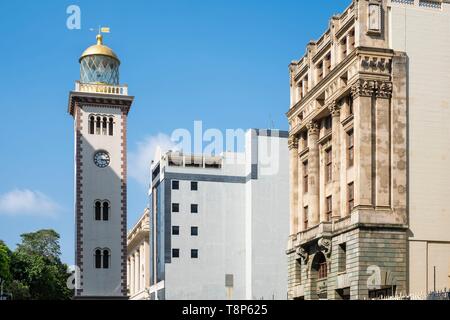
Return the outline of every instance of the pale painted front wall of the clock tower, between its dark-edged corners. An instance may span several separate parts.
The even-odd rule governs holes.
[[[114,135],[91,135],[88,133],[90,114],[114,116]],[[85,106],[81,111],[83,121],[83,295],[121,296],[121,128],[123,119],[120,109]],[[93,161],[98,150],[108,151],[111,163],[105,169]],[[95,221],[95,200],[111,203],[109,221]],[[96,269],[94,251],[108,248],[111,252],[110,268]]]

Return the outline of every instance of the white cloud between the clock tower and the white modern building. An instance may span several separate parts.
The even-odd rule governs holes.
[[[128,173],[144,186],[150,183],[150,165],[152,160],[155,160],[153,158],[158,147],[162,152],[166,152],[174,150],[175,143],[168,135],[159,133],[138,142],[136,150],[128,154]]]

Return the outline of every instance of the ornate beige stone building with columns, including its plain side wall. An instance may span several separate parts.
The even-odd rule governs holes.
[[[307,45],[305,56],[290,64],[290,299],[431,290],[431,263],[444,270],[447,284],[450,220],[443,199],[449,194],[437,188],[431,195],[428,188],[436,180],[421,180],[414,171],[432,166],[430,157],[413,154],[409,146],[421,141],[419,118],[427,117],[426,75],[436,72],[450,84],[436,65],[428,70],[415,65],[425,56],[438,59],[437,47],[421,47],[420,41],[438,36],[449,49],[448,31],[439,26],[448,26],[449,12],[447,1],[354,0]],[[428,107],[450,118],[448,90],[437,87],[434,94],[442,95],[447,109],[433,97]],[[438,125],[448,131],[448,123]],[[448,140],[438,143],[450,156]],[[414,199],[424,203],[439,197],[437,210],[420,211],[424,203],[411,200],[417,194],[425,200]],[[440,220],[425,226],[425,212]],[[435,248],[435,256],[423,246]],[[444,258],[433,262],[436,256]]]

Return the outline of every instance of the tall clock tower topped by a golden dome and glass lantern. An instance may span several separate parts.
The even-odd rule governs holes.
[[[79,62],[68,108],[75,134],[75,298],[126,299],[127,116],[134,97],[120,84],[120,60],[101,34]]]

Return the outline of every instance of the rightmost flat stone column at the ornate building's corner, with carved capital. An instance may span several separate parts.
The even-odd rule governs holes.
[[[376,90],[375,103],[375,205],[388,207],[390,205],[390,99],[392,83],[379,82]]]

